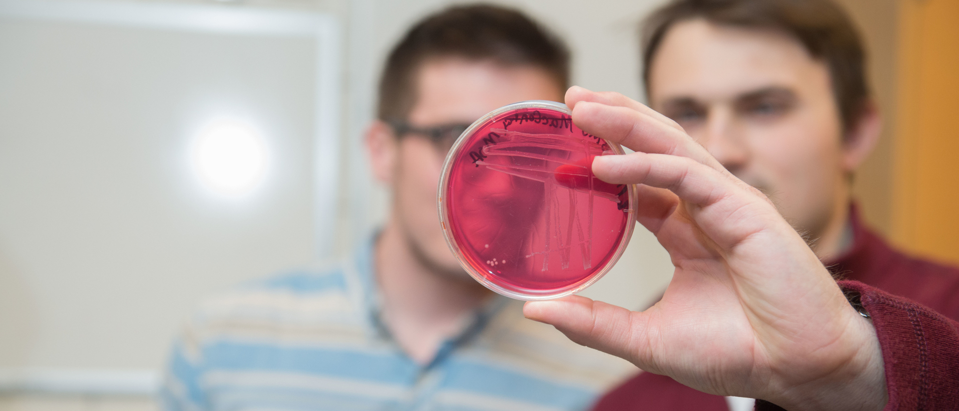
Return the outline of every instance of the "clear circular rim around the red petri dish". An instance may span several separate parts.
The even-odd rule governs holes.
[[[545,100],[530,100],[526,102],[504,105],[503,107],[497,108],[496,110],[493,110],[480,117],[479,120],[473,122],[472,125],[463,130],[459,137],[456,138],[456,142],[453,144],[453,147],[450,148],[450,151],[447,153],[446,158],[443,161],[443,169],[442,173],[440,174],[439,185],[436,190],[436,208],[437,214],[439,215],[440,228],[443,230],[443,238],[446,240],[447,246],[450,247],[450,251],[453,252],[453,255],[456,257],[456,261],[459,262],[466,272],[473,277],[474,280],[479,282],[479,284],[486,286],[498,294],[516,300],[554,300],[557,298],[573,295],[579,291],[582,291],[586,287],[595,284],[596,281],[599,281],[600,278],[606,275],[606,273],[613,268],[613,265],[616,265],[616,263],[620,261],[622,253],[626,250],[626,246],[629,245],[629,240],[631,240],[633,237],[633,230],[636,226],[637,190],[636,186],[633,184],[628,184],[626,186],[628,205],[626,209],[623,210],[623,212],[626,213],[626,226],[623,229],[619,246],[617,247],[612,258],[610,258],[610,260],[601,268],[597,269],[592,275],[584,278],[582,281],[574,283],[573,285],[547,290],[526,289],[520,287],[507,288],[487,280],[483,273],[479,272],[471,263],[469,263],[469,259],[459,248],[459,244],[456,242],[456,239],[453,235],[453,227],[450,225],[449,211],[446,207],[450,172],[453,170],[454,160],[458,157],[459,150],[466,144],[466,141],[473,135],[474,132],[476,132],[479,128],[485,127],[491,120],[496,119],[507,112],[528,108],[554,110],[569,116],[573,115],[573,110],[570,110],[570,108],[564,103],[550,102]],[[619,144],[606,139],[603,139],[603,141],[606,142],[610,150],[612,150],[615,154],[625,153]]]

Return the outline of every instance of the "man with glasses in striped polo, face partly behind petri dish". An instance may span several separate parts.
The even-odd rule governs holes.
[[[436,216],[447,149],[487,112],[561,101],[563,44],[526,16],[455,7],[386,60],[366,143],[392,192],[352,261],[210,301],[175,344],[168,409],[582,409],[635,367],[528,321],[459,266]]]

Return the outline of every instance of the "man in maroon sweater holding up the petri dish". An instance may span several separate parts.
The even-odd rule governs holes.
[[[881,409],[887,400],[890,409],[955,409],[955,323],[949,325],[939,315],[959,319],[959,271],[890,248],[862,224],[852,204],[853,172],[877,140],[879,117],[849,18],[828,0],[680,0],[651,14],[643,29],[643,80],[650,107],[675,123],[620,97],[571,91],[567,103],[632,107],[576,105],[573,119],[614,141],[624,138],[617,134],[620,129],[607,126],[603,133],[589,123],[599,117],[620,128],[647,128],[643,137],[648,141],[625,137],[635,140],[632,148],[673,148],[696,161],[664,159],[667,165],[650,154],[633,163],[615,163],[615,170],[612,162],[600,162],[595,169],[597,175],[617,175],[611,181],[617,183],[643,182],[642,174],[643,180],[652,179],[647,184],[667,187],[686,200],[670,217],[650,216],[643,222],[669,249],[677,265],[675,277],[663,300],[642,314],[592,306],[592,332],[571,319],[590,307],[583,300],[573,302],[576,309],[533,306],[530,312],[578,342],[623,354],[656,373],[627,381],[596,409],[752,409],[746,399],[722,395],[770,400],[786,409]],[[673,134],[674,139],[667,139]],[[685,148],[692,141],[710,155]],[[656,149],[649,150],[653,143]],[[692,172],[703,166],[713,170]],[[680,182],[656,175],[650,167],[690,171]],[[626,181],[623,174],[633,180]],[[710,193],[697,190],[696,184],[713,184],[714,179],[723,183]],[[809,247],[802,250],[782,218],[771,216],[762,195],[733,183],[723,189],[726,180],[748,183],[768,195]],[[674,198],[667,197],[648,194],[652,199],[647,202],[655,210],[663,207],[661,202],[672,204]],[[713,242],[683,239],[675,233],[680,228],[706,233]],[[767,238],[770,230],[782,230],[792,238],[790,244],[777,236]],[[757,243],[760,239],[765,244]],[[700,255],[692,258],[690,253]],[[842,289],[860,309],[860,304],[872,304],[863,310],[871,319],[856,318],[859,314],[845,304],[830,274],[865,284],[842,283]],[[867,295],[871,303],[857,301]],[[902,308],[905,315],[890,308]],[[553,317],[558,312],[565,319]],[[628,344],[626,338],[597,338],[602,331],[611,332],[597,320],[602,317],[632,326],[617,333],[637,338]],[[667,325],[669,331],[661,330]],[[936,334],[943,328],[946,337]],[[877,331],[882,331],[878,340]],[[904,339],[897,339],[897,332]],[[851,337],[858,342],[843,342]],[[830,357],[841,352],[833,351],[836,347],[848,355]],[[824,353],[820,359],[848,363],[817,370],[818,359],[808,355],[815,350]],[[798,387],[804,384],[805,389]]]

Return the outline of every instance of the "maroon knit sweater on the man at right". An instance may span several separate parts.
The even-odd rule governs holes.
[[[859,221],[853,247],[827,262],[858,292],[870,313],[885,360],[886,410],[959,410],[959,269],[909,258]],[[894,295],[895,294],[895,295]],[[758,400],[756,409],[780,410]],[[721,396],[670,377],[642,373],[600,399],[595,411],[728,411]]]

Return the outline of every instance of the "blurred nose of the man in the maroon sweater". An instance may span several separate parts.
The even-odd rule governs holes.
[[[709,110],[705,132],[699,139],[699,143],[734,174],[749,160],[749,149],[740,128],[732,110],[716,107]]]

